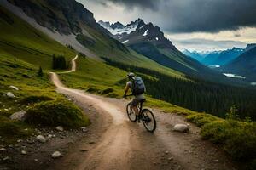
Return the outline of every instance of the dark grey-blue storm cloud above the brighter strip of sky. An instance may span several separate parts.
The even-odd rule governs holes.
[[[171,32],[218,32],[256,26],[256,0],[107,1],[124,5],[128,9],[137,7],[135,10],[143,18]],[[142,10],[146,8],[151,12]]]

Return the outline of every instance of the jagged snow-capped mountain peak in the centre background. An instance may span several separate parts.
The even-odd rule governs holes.
[[[113,25],[104,21],[98,23],[111,32],[119,42],[160,65],[185,74],[197,75],[209,72],[207,67],[180,52],[160,31],[159,26],[154,26],[152,23],[146,24],[142,19],[132,21],[126,26],[118,23],[119,27],[116,28],[113,28],[113,25],[117,23]]]

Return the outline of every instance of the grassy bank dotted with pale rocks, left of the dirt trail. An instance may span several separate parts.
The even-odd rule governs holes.
[[[0,142],[1,144],[13,144],[17,139],[27,138],[35,133],[33,129],[39,122],[35,124],[9,119],[9,116],[16,111],[34,111],[35,115],[30,115],[30,118],[35,116],[34,118],[37,117],[39,120],[42,116],[45,122],[55,123],[55,126],[79,127],[89,124],[88,118],[82,114],[82,111],[67,101],[64,96],[55,93],[55,87],[49,82],[45,71],[43,77],[38,77],[37,66],[4,55],[0,57],[0,65],[0,136],[4,140]],[[19,91],[10,88],[11,85],[19,88]],[[15,94],[15,98],[7,97],[5,95],[7,92]],[[45,103],[49,104],[49,110],[46,109],[44,112],[42,110],[40,116],[36,115],[38,109],[41,109]],[[65,104],[62,105],[62,109],[60,103]],[[61,115],[61,120],[67,124],[47,115],[52,113],[49,112],[51,110],[55,111],[55,115],[59,114],[56,118]]]

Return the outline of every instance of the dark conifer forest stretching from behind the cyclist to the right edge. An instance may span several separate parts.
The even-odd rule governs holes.
[[[190,80],[183,80],[157,71],[103,59],[108,65],[125,71],[137,72],[146,84],[147,94],[155,99],[165,100],[193,111],[205,111],[219,117],[225,117],[230,107],[236,105],[240,118],[249,116],[254,121],[256,120],[255,89],[239,88],[193,79],[193,77],[190,77]],[[155,78],[147,77],[145,74]]]

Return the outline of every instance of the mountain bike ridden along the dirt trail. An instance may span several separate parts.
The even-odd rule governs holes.
[[[126,95],[126,97],[131,95]],[[150,133],[154,133],[154,130],[156,129],[156,121],[154,118],[154,114],[152,111],[148,109],[143,109],[143,103],[146,101],[146,99],[143,99],[140,101],[138,107],[139,114],[136,116],[135,111],[131,108],[131,102],[129,102],[126,106],[126,112],[127,116],[130,119],[131,122],[143,122],[144,127],[146,130]]]

